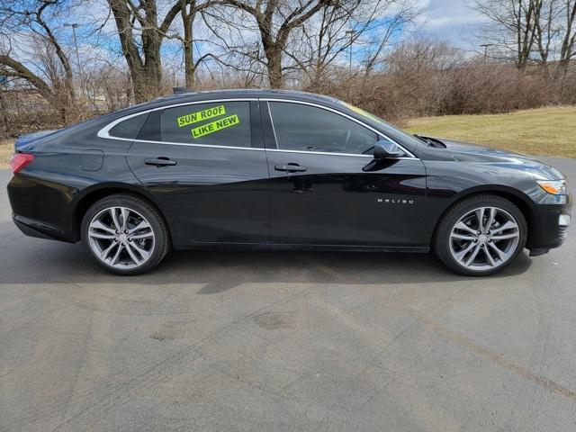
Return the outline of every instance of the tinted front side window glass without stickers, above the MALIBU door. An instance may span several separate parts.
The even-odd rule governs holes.
[[[378,135],[336,112],[301,103],[270,102],[278,148],[371,155]]]

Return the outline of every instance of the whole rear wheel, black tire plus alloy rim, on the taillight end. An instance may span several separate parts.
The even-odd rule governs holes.
[[[146,273],[170,248],[166,222],[157,208],[123,193],[107,196],[85,212],[80,238],[96,264],[115,275]]]

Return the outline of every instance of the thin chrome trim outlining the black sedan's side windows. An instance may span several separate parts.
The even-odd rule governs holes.
[[[418,157],[415,157],[410,151],[408,151],[406,148],[403,148],[400,144],[398,144],[396,141],[394,141],[393,139],[387,137],[385,134],[383,134],[382,132],[380,132],[379,130],[375,130],[373,127],[365,124],[362,121],[358,121],[356,120],[354,117],[351,117],[347,114],[345,114],[344,112],[339,112],[338,110],[334,110],[332,108],[329,108],[327,106],[323,106],[320,105],[318,103],[309,103],[309,102],[303,102],[303,101],[295,101],[292,99],[275,99],[275,98],[257,98],[257,97],[241,97],[241,98],[232,98],[232,99],[210,99],[210,100],[204,100],[204,101],[193,101],[193,102],[184,102],[184,103],[174,103],[171,105],[163,105],[163,106],[158,106],[156,108],[152,108],[149,110],[144,110],[144,111],[139,111],[139,112],[134,112],[132,114],[129,115],[125,115],[119,119],[116,119],[110,123],[108,123],[106,126],[104,126],[102,129],[98,130],[98,132],[96,133],[96,135],[98,136],[98,138],[103,138],[103,139],[116,139],[116,140],[121,140],[121,141],[130,141],[130,142],[144,142],[144,143],[148,143],[148,144],[165,144],[165,145],[169,145],[169,146],[185,146],[185,147],[201,147],[201,148],[229,148],[229,149],[238,149],[238,150],[256,150],[256,151],[274,151],[274,152],[278,152],[278,153],[299,153],[299,154],[303,154],[303,155],[324,155],[324,156],[353,156],[353,157],[373,157],[371,155],[357,155],[354,153],[330,153],[330,152],[325,152],[325,151],[302,151],[302,150],[285,150],[282,148],[257,148],[257,147],[235,147],[235,146],[218,146],[218,145],[214,145],[214,144],[192,144],[192,143],[186,143],[186,142],[172,142],[172,141],[155,141],[155,140],[149,140],[149,139],[130,139],[130,138],[120,138],[120,137],[113,137],[112,135],[110,135],[110,130],[112,130],[112,128],[114,126],[116,126],[118,123],[120,123],[121,121],[125,121],[125,120],[129,120],[132,117],[136,117],[138,115],[144,115],[144,114],[148,114],[150,112],[153,111],[159,111],[159,110],[166,110],[169,108],[176,108],[178,106],[185,106],[185,105],[195,105],[195,104],[199,104],[199,103],[218,103],[218,102],[250,102],[250,101],[265,101],[266,103],[268,102],[286,102],[286,103],[301,103],[304,105],[311,105],[311,106],[315,106],[317,108],[323,109],[323,110],[327,110],[330,112],[335,112],[339,115],[342,115],[343,117],[346,117],[347,119],[351,120],[351,121],[356,121],[356,123],[364,126],[365,128],[372,130],[374,133],[376,133],[377,135],[379,135],[380,137],[383,137],[385,139],[389,139],[390,141],[392,141],[394,144],[396,144],[398,147],[400,147],[404,152],[406,152],[406,154],[410,155],[410,157],[391,157],[391,159],[405,159],[405,160],[420,160]],[[274,134],[276,133],[274,130],[274,120],[272,119],[272,113],[270,112],[270,106],[268,105],[268,112],[270,115],[270,121],[272,121],[272,129],[274,131]],[[275,136],[276,138],[276,136]],[[277,142],[277,140],[276,140]]]

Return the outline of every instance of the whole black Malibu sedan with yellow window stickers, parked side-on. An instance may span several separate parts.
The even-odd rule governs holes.
[[[76,242],[119,275],[171,247],[428,252],[491,275],[559,247],[572,197],[536,160],[409,135],[316,94],[177,93],[18,139],[24,234]]]

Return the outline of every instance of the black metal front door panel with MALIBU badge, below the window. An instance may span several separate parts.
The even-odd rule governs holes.
[[[418,159],[391,160],[269,151],[271,239],[275,243],[421,247],[429,227],[426,173]],[[298,164],[304,173],[275,166]]]

